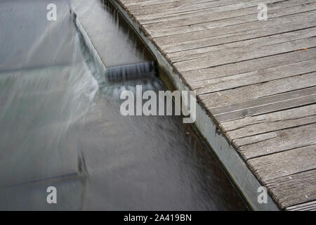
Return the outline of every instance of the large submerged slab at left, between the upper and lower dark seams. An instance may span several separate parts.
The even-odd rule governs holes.
[[[0,72],[0,187],[79,174],[77,122],[93,84],[79,64]]]

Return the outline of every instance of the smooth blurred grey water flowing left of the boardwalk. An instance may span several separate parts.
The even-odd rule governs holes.
[[[45,19],[50,1],[0,2],[0,210],[245,210],[181,117],[120,114],[121,91],[164,84],[137,72],[103,82],[68,4],[56,2],[58,23]],[[87,13],[91,2],[81,5]]]

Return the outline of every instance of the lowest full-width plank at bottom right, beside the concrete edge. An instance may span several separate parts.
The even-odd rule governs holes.
[[[266,181],[273,198],[284,209],[316,199],[316,169]]]

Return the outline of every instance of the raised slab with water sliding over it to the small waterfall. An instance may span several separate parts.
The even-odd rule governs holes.
[[[106,68],[152,62],[147,48],[115,8],[99,0],[72,0],[71,6],[86,40],[96,49]]]

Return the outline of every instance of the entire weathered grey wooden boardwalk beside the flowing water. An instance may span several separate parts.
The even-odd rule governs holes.
[[[278,207],[315,210],[316,1],[116,1]]]

